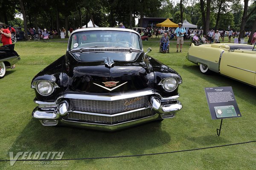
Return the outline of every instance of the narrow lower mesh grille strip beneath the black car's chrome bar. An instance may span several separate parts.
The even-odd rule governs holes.
[[[98,116],[71,112],[68,114],[68,116],[64,117],[63,120],[82,123],[96,123],[102,125],[115,125],[123,122],[142,119],[149,116],[154,116],[155,114],[156,113],[154,113],[151,108],[117,116]]]

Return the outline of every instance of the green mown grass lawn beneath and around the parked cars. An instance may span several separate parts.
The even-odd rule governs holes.
[[[36,104],[31,80],[65,53],[67,41],[17,42],[15,50],[21,60],[14,70],[6,71],[6,77],[0,79],[0,159],[9,159],[9,152],[19,151],[61,151],[63,159],[71,159],[162,153],[255,141],[256,88],[218,74],[201,74],[199,66],[185,58],[189,44],[185,42],[183,52],[176,53],[175,41],[171,41],[170,53],[160,54],[158,38],[143,42],[144,51],[151,47],[151,57],[169,65],[183,78],[179,86],[183,109],[175,118],[107,133],[73,127],[44,127],[32,119]],[[242,114],[241,118],[224,119],[220,136],[216,135],[216,129],[221,121],[211,119],[204,93],[205,87],[217,86],[232,86]],[[152,156],[72,160],[67,165],[47,169],[253,170],[256,169],[256,143]],[[35,164],[24,161],[14,166],[10,166],[10,162],[0,162],[0,170],[3,169],[36,168]]]

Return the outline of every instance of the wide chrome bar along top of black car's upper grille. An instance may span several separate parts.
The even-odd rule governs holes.
[[[131,93],[131,94],[122,94],[118,96],[97,96],[97,95],[90,95],[90,94],[64,94],[64,98],[69,99],[87,99],[87,100],[105,100],[105,101],[114,101],[114,100],[120,100],[120,99],[128,99],[133,97],[139,97],[139,96],[147,96],[155,94],[154,91],[140,91],[137,93]],[[111,94],[109,94],[111,95]],[[59,99],[59,98],[58,98]]]

